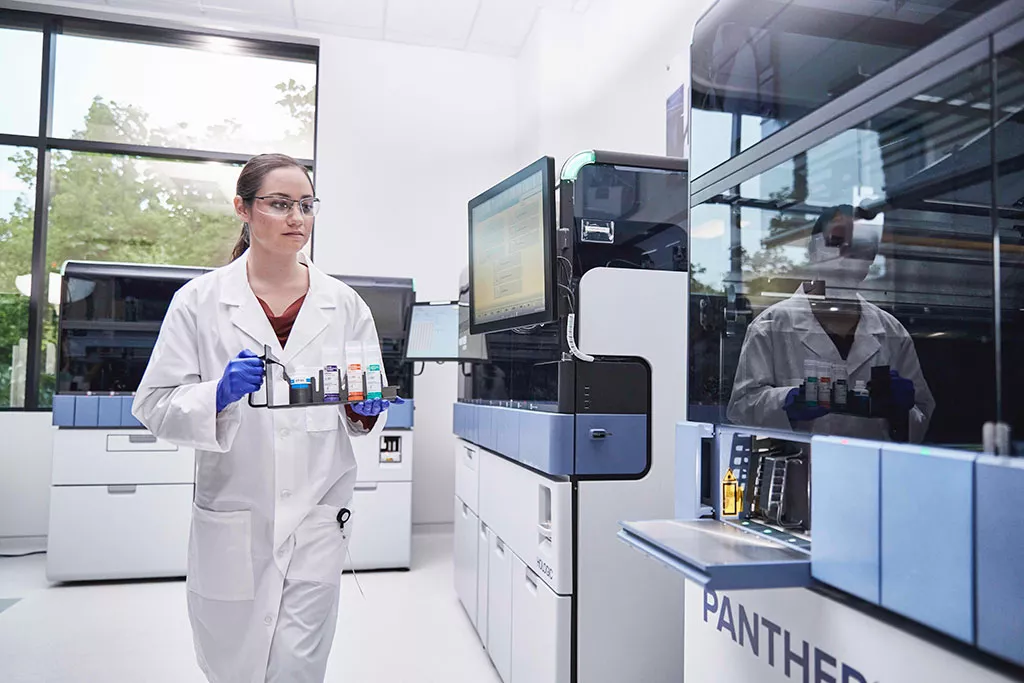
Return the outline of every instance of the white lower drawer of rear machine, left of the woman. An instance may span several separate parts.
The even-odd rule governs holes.
[[[185,575],[193,485],[51,486],[46,575]]]

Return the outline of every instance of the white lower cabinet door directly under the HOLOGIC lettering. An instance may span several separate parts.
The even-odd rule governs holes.
[[[513,559],[511,683],[568,683],[572,599]]]

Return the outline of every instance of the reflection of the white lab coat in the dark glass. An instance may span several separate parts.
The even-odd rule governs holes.
[[[910,411],[910,440],[921,442],[935,410],[913,340],[899,321],[858,296],[860,322],[849,357],[843,360],[836,344],[811,312],[810,300],[798,292],[769,307],[746,330],[739,354],[736,380],[729,401],[729,420],[738,425],[769,427],[815,434],[835,434],[889,440],[884,419],[826,415],[812,422],[790,424],[782,410],[786,394],[804,381],[804,360],[822,360],[846,366],[849,389],[858,380],[871,379],[871,368],[889,366],[913,382],[916,405]]]

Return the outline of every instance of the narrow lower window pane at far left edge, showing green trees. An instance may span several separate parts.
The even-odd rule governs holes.
[[[0,408],[25,407],[36,155],[0,145]]]

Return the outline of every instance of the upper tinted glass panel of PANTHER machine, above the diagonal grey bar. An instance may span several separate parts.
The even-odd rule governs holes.
[[[693,177],[999,1],[720,0],[693,37]]]

